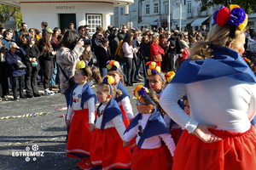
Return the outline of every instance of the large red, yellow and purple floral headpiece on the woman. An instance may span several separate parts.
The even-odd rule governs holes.
[[[230,8],[222,6],[213,14],[213,24],[224,26],[237,26],[239,30],[243,30],[247,26],[248,16],[245,11],[236,4],[230,4]]]

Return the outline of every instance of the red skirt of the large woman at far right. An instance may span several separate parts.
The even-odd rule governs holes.
[[[245,133],[210,129],[222,140],[207,144],[183,131],[173,161],[173,170],[253,170],[256,168],[256,133],[251,127]]]

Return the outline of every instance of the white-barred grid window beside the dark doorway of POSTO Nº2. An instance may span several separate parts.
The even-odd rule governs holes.
[[[94,34],[97,26],[102,26],[102,14],[86,14],[87,25],[90,28],[89,33]]]

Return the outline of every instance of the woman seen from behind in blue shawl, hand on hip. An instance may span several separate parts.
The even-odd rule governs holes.
[[[173,170],[255,169],[256,78],[244,53],[247,14],[221,7],[206,41],[195,42],[161,95],[160,105],[184,131]],[[190,115],[177,105],[187,94]],[[189,141],[189,142],[188,142]],[[196,163],[195,163],[196,162]]]

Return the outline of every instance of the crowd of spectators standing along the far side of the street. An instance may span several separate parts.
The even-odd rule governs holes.
[[[56,53],[60,42],[68,30],[77,31],[79,38],[84,42],[84,51],[79,59],[86,60],[89,65],[98,67],[102,76],[107,75],[106,62],[110,59],[118,60],[125,73],[126,86],[143,81],[147,75],[143,71],[143,65],[154,60],[155,55],[161,56],[161,61],[156,61],[161,71],[177,71],[182,65],[184,51],[192,47],[196,41],[207,39],[207,31],[165,31],[163,27],[158,29],[144,28],[142,30],[121,26],[108,26],[104,30],[102,26],[96,27],[96,32],[90,34],[90,26],[79,26],[76,29],[70,23],[68,29],[55,27],[49,28],[48,23],[41,23],[42,31],[22,23],[19,31],[0,27],[0,100],[7,99],[12,89],[14,99],[18,100],[15,88],[25,89],[26,95],[20,93],[21,98],[40,97],[38,84],[43,83],[44,95],[54,95],[52,89],[59,89],[59,72],[56,62]],[[246,32],[246,53],[250,65],[254,68],[256,54],[256,36],[252,29]],[[78,42],[79,40],[77,40]],[[16,46],[12,43],[15,42]],[[10,44],[15,51],[10,49]],[[72,45],[72,44],[69,44]],[[11,58],[17,52],[16,59]],[[122,53],[120,53],[120,51]],[[20,58],[19,58],[20,57]],[[10,59],[11,64],[9,63]],[[26,69],[19,70],[15,65],[17,62],[26,65]],[[12,75],[13,71],[19,70],[22,75]],[[16,78],[13,78],[16,77]],[[17,87],[20,84],[20,88]],[[16,89],[16,90],[17,90]]]

